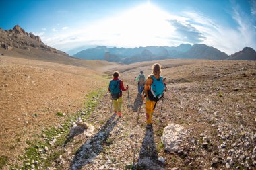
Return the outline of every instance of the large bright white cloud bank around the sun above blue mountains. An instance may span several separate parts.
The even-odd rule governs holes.
[[[232,5],[238,28],[222,26],[218,21],[195,11],[172,15],[148,3],[79,28],[65,26],[62,30],[69,29],[65,34],[57,34],[53,28],[55,35],[42,37],[42,40],[61,50],[84,44],[136,47],[178,46],[184,42],[201,42],[227,54],[233,54],[245,46],[256,48],[255,26],[248,24],[249,20],[242,16],[236,4]],[[170,20],[176,21],[176,24]]]

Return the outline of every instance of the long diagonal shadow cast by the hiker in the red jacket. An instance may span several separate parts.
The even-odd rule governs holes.
[[[83,144],[75,153],[73,160],[70,163],[69,169],[82,169],[88,163],[92,163],[93,159],[100,154],[103,150],[102,144],[108,138],[110,132],[113,130],[117,122],[119,122],[119,118],[115,120],[116,114],[113,114],[110,119],[100,128],[97,134],[92,138],[86,140],[85,144]]]

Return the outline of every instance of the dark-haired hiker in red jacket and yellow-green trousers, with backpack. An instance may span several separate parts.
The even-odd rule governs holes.
[[[113,100],[113,105],[114,105],[114,114],[118,114],[118,116],[121,116],[121,108],[122,108],[122,103],[123,103],[123,98],[122,98],[122,91],[127,91],[129,88],[128,85],[127,87],[123,87],[123,81],[119,79],[119,72],[115,71],[113,73],[113,80],[110,81],[108,91],[111,93],[111,97]]]

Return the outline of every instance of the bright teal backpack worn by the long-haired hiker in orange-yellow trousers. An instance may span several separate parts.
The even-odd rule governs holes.
[[[159,101],[163,94],[164,94],[164,83],[163,77],[161,76],[160,79],[156,79],[154,75],[151,75],[153,79],[153,83],[151,85],[150,90],[148,91],[148,97],[151,101]]]

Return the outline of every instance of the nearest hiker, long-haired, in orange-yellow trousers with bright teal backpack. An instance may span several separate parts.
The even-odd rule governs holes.
[[[148,76],[144,86],[144,96],[146,97],[146,128],[152,128],[152,114],[156,108],[156,103],[162,98],[166,85],[161,73],[161,65],[152,65],[152,74]]]

